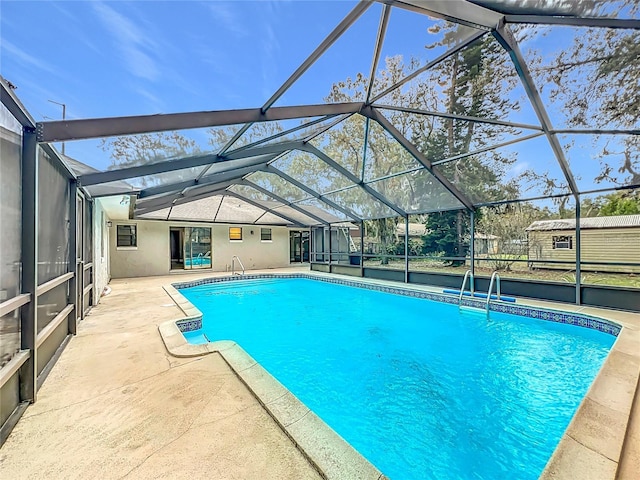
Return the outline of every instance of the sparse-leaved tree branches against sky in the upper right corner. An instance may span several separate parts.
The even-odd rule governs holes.
[[[576,13],[586,10],[589,16],[614,18],[626,10],[629,18],[635,18],[640,12],[640,3],[636,0],[580,1],[575,8]],[[560,118],[564,117],[566,126],[637,129],[640,124],[640,31],[526,27],[521,28],[518,35],[522,41],[553,31],[573,35],[569,46],[553,56],[543,57],[539,52],[530,51],[528,57],[536,83],[541,89],[547,89],[551,106]],[[595,153],[600,172],[584,181],[613,186],[640,184],[637,135],[593,135],[591,144],[590,153]],[[572,154],[569,150],[569,160]],[[573,157],[573,160],[578,159]]]

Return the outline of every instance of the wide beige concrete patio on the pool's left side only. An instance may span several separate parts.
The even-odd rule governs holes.
[[[291,271],[288,269],[287,271]],[[1,478],[321,478],[218,354],[170,356],[161,285],[113,280],[0,450]]]

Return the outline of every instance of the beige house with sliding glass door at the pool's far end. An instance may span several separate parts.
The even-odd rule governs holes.
[[[313,242],[317,251],[324,251],[323,242],[328,238],[316,233],[322,227],[310,229],[294,223],[312,223],[313,219],[277,202],[265,200],[261,205],[263,208],[225,194],[152,211],[134,209],[133,218],[110,222],[110,274],[123,278],[205,269],[238,271],[240,262],[247,270],[280,268],[309,262]],[[306,211],[332,224],[332,252],[348,253],[346,243],[339,241],[340,219],[314,206],[307,206]],[[317,258],[323,259],[322,255]]]

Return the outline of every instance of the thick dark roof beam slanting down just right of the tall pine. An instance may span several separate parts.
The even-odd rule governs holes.
[[[556,160],[560,164],[560,168],[562,169],[562,173],[564,173],[567,184],[571,189],[571,193],[573,193],[574,195],[577,194],[578,186],[576,185],[575,177],[571,173],[569,162],[567,162],[567,159],[564,156],[564,151],[562,150],[562,146],[558,141],[558,137],[556,137],[552,133],[553,126],[551,125],[551,120],[549,119],[549,115],[544,108],[544,104],[542,102],[542,99],[540,98],[540,93],[535,86],[533,76],[529,71],[529,67],[527,66],[527,63],[522,56],[522,52],[520,52],[520,47],[518,46],[517,40],[511,33],[511,30],[509,30],[508,26],[504,25],[504,23],[499,25],[497,29],[493,30],[492,34],[511,57],[511,60],[513,61],[513,64],[516,68],[516,72],[518,72],[518,77],[520,77],[520,81],[522,82],[522,85],[527,92],[527,96],[529,97],[531,106],[538,116],[538,120],[540,121],[542,130],[547,136],[547,140],[549,141],[549,145],[551,145],[551,149],[556,156]]]

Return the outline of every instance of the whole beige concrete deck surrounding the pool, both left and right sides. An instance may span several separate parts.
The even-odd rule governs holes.
[[[264,271],[297,272],[309,269]],[[113,280],[111,294],[79,324],[38,401],[0,449],[0,478],[327,476],[219,353],[178,358],[167,352],[158,328],[185,315],[162,287],[224,275]],[[541,478],[637,480],[640,315],[518,302],[600,316],[625,327]]]

